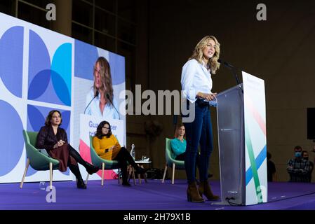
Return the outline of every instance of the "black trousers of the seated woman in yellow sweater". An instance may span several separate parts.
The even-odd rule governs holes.
[[[128,164],[132,165],[135,169],[138,169],[138,165],[133,160],[133,157],[126,150],[125,147],[121,147],[121,150],[116,155],[113,160],[117,160],[119,162],[119,167],[121,168],[121,176],[123,178],[123,182],[126,182],[128,179],[127,167]]]

